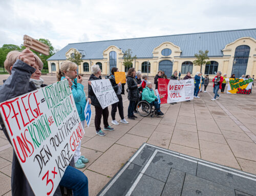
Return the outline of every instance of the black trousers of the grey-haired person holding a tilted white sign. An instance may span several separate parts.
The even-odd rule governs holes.
[[[101,122],[101,116],[103,116],[103,124],[104,127],[109,126],[108,118],[109,118],[109,108],[106,107],[102,110],[101,107],[96,107],[95,106],[95,118],[94,118],[94,123],[95,123],[95,128],[96,131],[98,132],[100,128],[100,122]]]

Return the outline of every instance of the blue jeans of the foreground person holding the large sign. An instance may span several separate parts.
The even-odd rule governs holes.
[[[59,185],[70,188],[73,196],[88,196],[88,178],[80,170],[68,166]]]

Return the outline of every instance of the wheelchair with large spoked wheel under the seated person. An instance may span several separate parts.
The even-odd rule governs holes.
[[[158,113],[155,108],[155,105],[154,104],[151,105],[146,100],[139,101],[136,106],[136,110],[137,110],[138,114],[143,117],[146,117],[148,115],[150,115],[150,117],[154,117],[154,115],[157,115],[157,117],[158,117]]]

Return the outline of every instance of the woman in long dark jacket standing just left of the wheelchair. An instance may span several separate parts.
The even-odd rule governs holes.
[[[139,100],[139,86],[135,79],[136,71],[134,68],[130,68],[127,73],[127,86],[128,86],[128,100],[130,101],[128,107],[128,118],[135,120],[137,116],[133,114],[136,101]]]

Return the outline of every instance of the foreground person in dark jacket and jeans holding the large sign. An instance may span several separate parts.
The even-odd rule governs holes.
[[[0,102],[15,98],[20,95],[24,95],[31,91],[34,91],[42,87],[41,80],[38,80],[41,75],[41,69],[43,64],[39,57],[33,54],[30,50],[25,49],[19,54],[18,60],[10,67],[11,75],[6,82],[0,87]],[[31,80],[32,79],[32,80]],[[37,81],[38,82],[37,82]],[[0,124],[3,132],[7,136],[10,142],[10,138],[7,133],[7,128],[4,125],[3,119],[0,118]],[[19,164],[20,159],[13,153],[12,160],[12,195],[13,196],[32,196],[34,192],[30,187],[30,184],[23,172],[22,167]],[[51,179],[47,179],[47,183],[51,182]],[[42,181],[42,183],[45,183]],[[51,185],[51,183],[49,183]],[[53,185],[53,184],[52,184]],[[62,179],[59,185],[71,188],[73,195],[88,195],[88,179],[83,172],[75,169],[71,166],[67,166],[63,173]],[[45,186],[45,184],[38,184],[38,186]],[[61,195],[59,186],[57,187],[55,196]]]

